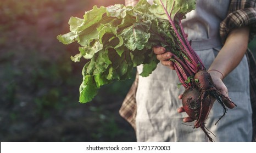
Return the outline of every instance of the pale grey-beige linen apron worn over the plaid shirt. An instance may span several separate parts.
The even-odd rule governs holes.
[[[216,54],[221,49],[219,24],[226,17],[229,1],[210,0],[197,1],[197,9],[188,13],[183,20],[188,39],[192,40],[192,48],[202,59],[208,69]],[[142,66],[137,67],[142,72]],[[207,142],[204,132],[193,126],[182,124],[185,113],[177,113],[182,103],[177,98],[184,88],[177,89],[179,79],[175,70],[158,64],[157,69],[143,78],[140,76],[136,95],[137,116],[136,136],[138,142]],[[229,96],[237,104],[222,115],[222,107],[214,103],[206,120],[206,127],[215,142],[251,142],[252,140],[252,108],[249,99],[249,69],[246,56],[241,63],[225,79]],[[193,125],[194,122],[188,123]]]

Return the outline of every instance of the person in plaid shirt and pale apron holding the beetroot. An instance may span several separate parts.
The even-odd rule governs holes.
[[[137,1],[125,1],[135,5]],[[153,3],[153,1],[148,1]],[[247,49],[256,33],[256,1],[202,1],[186,14],[182,25],[188,40],[213,84],[222,95],[228,113],[222,106],[212,103],[207,112],[205,127],[216,137],[215,142],[255,141],[255,60]],[[171,50],[162,46],[153,48],[162,64],[149,77],[137,76],[120,109],[120,114],[136,130],[138,142],[207,142],[201,130],[181,124],[192,122],[181,107],[182,89],[174,69]],[[172,69],[172,70],[170,70]],[[138,74],[142,66],[137,67]],[[254,86],[254,88],[253,88]],[[180,95],[178,97],[178,95]],[[177,109],[178,108],[178,113]],[[253,117],[253,120],[252,120]],[[192,125],[193,126],[193,125]],[[196,126],[198,127],[198,126]]]

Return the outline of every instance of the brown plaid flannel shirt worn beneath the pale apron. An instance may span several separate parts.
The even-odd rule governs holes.
[[[139,0],[125,0],[125,5],[134,6]],[[256,0],[231,0],[229,13],[224,21],[220,23],[220,37],[225,42],[227,34],[233,29],[242,26],[250,27],[250,40],[256,35]],[[250,71],[250,95],[253,110],[253,142],[256,142],[256,62],[252,52],[248,49],[246,53]],[[127,93],[119,114],[126,119],[136,131],[135,117],[137,111],[136,91],[138,85],[138,74],[136,74],[130,91]]]

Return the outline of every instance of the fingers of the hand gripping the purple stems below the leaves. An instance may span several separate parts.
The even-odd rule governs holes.
[[[157,54],[157,59],[164,65],[169,67],[170,69],[174,70],[174,62],[169,61],[169,59],[172,57],[171,52],[166,51],[164,47],[162,46],[155,46],[153,48],[153,51],[155,54]]]

